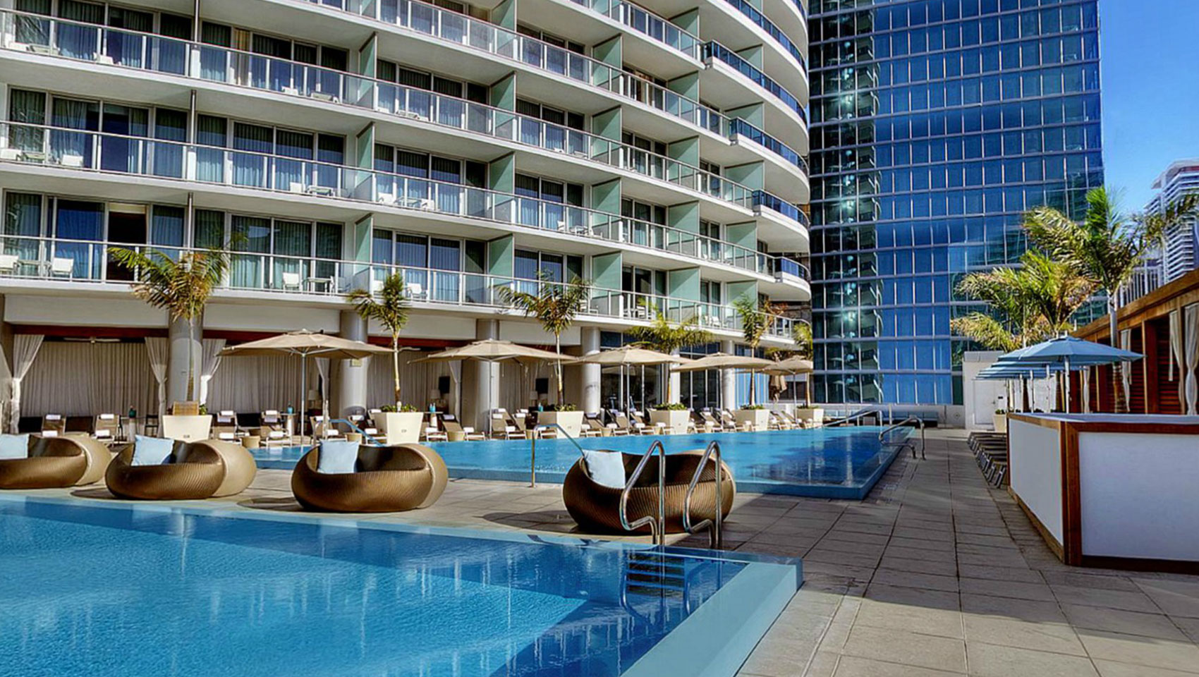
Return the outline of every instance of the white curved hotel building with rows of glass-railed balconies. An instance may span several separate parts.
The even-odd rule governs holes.
[[[412,349],[552,345],[495,290],[577,276],[594,290],[570,352],[656,313],[711,331],[698,350],[745,350],[734,300],[811,297],[807,47],[802,0],[0,0],[20,413],[185,399],[189,341],[211,410],[285,406],[297,368],[217,349],[297,328],[381,340],[344,294],[392,272]],[[231,268],[193,336],[133,298],[109,253],[223,243]],[[776,316],[763,346],[793,345],[796,321]],[[32,365],[22,336],[46,337]],[[321,367],[335,410],[390,401],[374,362]],[[488,403],[546,399],[543,381],[410,364],[404,387],[421,407],[460,389],[480,424]],[[594,411],[616,381],[570,368],[566,397]],[[715,382],[673,392],[715,404]]]

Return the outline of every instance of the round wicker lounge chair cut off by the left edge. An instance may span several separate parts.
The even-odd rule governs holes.
[[[113,460],[108,447],[88,435],[30,435],[29,458],[0,460],[0,489],[52,489],[91,484]]]

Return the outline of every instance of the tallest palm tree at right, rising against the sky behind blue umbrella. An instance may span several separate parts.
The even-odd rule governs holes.
[[[1158,212],[1120,212],[1115,197],[1105,188],[1086,194],[1086,214],[1081,222],[1052,207],[1037,207],[1024,217],[1029,237],[1050,255],[1073,262],[1108,296],[1108,332],[1113,346],[1119,345],[1116,319],[1120,313],[1120,289],[1145,262],[1146,255],[1162,236],[1195,214],[1195,195],[1186,195]],[[1117,379],[1113,369],[1113,379]],[[1114,387],[1116,409],[1122,409],[1122,391]]]

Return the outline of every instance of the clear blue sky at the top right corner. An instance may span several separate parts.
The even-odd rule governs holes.
[[[1173,161],[1199,157],[1199,0],[1099,0],[1103,164],[1139,210]]]

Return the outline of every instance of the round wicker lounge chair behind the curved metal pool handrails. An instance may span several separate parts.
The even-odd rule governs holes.
[[[667,533],[680,533],[682,528],[682,503],[687,495],[687,485],[699,465],[704,453],[699,451],[667,454],[665,467],[665,509]],[[625,460],[625,477],[637,469],[640,455],[621,454]],[[707,467],[699,476],[699,484],[691,498],[691,518],[693,522],[716,516],[716,463],[709,459]],[[733,509],[736,495],[736,483],[733,471],[722,461],[721,469],[721,508],[728,515]],[[620,489],[596,484],[588,474],[583,459],[576,463],[562,482],[562,502],[574,521],[584,530],[595,533],[628,533],[620,525]],[[637,479],[637,485],[628,494],[628,521],[658,512],[658,457],[651,457],[645,470]],[[649,525],[635,533],[650,533]]]

